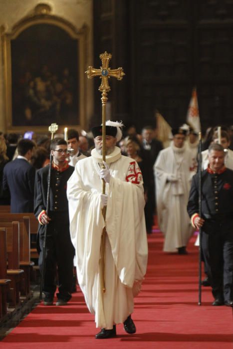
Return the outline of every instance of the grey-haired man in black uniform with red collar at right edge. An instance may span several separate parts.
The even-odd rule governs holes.
[[[202,218],[199,211],[199,177],[190,190],[188,213],[194,227],[202,227],[202,247],[213,306],[233,307],[233,171],[224,165],[220,144],[209,147],[209,166],[202,172]]]

